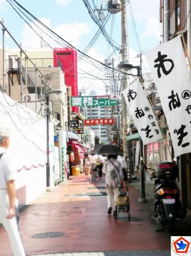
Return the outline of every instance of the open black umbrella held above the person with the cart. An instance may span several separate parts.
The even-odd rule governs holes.
[[[120,155],[123,151],[112,144],[99,145],[91,153],[98,155]]]

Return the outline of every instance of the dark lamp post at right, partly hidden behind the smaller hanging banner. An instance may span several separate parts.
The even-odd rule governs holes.
[[[141,54],[140,57],[140,66],[133,66],[132,64],[129,64],[127,62],[121,62],[118,65],[118,69],[123,70],[131,70],[131,69],[137,69],[137,77],[140,77],[142,80],[142,59]],[[139,138],[139,144],[140,144],[140,203],[147,203],[147,199],[145,198],[145,170],[144,170],[144,147],[142,143],[142,139]]]

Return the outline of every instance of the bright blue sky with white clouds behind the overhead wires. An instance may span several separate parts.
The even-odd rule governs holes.
[[[16,6],[13,0],[0,0],[1,20],[3,19],[5,27],[17,43],[21,43],[22,48],[48,47],[45,43],[42,44],[39,36],[36,36],[35,32],[17,14],[9,2],[13,4],[13,7]],[[80,51],[84,51],[99,30],[97,24],[91,19],[83,0],[17,0],[17,2]],[[106,7],[105,3],[107,1],[89,0],[91,6],[93,2],[97,9],[100,9],[100,4]],[[136,58],[137,54],[160,44],[160,0],[128,0],[127,2],[129,62],[138,65],[139,58]],[[94,14],[99,17],[97,12],[94,12]],[[26,19],[22,13],[21,15]],[[102,15],[107,17],[108,11],[103,11]],[[31,25],[28,19],[27,21]],[[137,32],[135,32],[135,26]],[[63,42],[60,46],[55,40],[41,32],[39,28],[34,27],[34,29],[52,48],[66,46]],[[120,48],[120,12],[110,15],[105,31],[115,41],[117,48]],[[2,35],[0,36],[0,45],[2,47]],[[5,37],[5,47],[17,47],[7,35]],[[102,34],[86,54],[100,62],[105,62],[108,57],[109,59],[113,58],[115,66],[120,62],[120,50],[114,50]],[[147,67],[145,67],[145,72],[147,72],[146,69]],[[84,88],[86,93],[95,90],[98,95],[103,95],[102,92],[108,83],[104,80],[104,74],[104,66],[93,64],[92,61],[87,61],[85,58],[78,59],[79,89]]]

